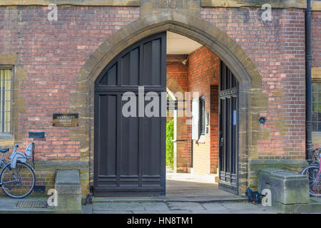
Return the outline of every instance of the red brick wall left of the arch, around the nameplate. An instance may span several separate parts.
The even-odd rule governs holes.
[[[52,113],[69,112],[83,64],[112,33],[136,20],[139,8],[58,6],[58,21],[48,21],[48,12],[46,6],[1,6],[0,53],[19,53],[19,67],[28,69],[19,90],[26,98],[26,112],[19,114],[22,149],[29,131],[44,131],[36,159],[79,160],[80,142],[68,138],[72,128],[54,128]]]

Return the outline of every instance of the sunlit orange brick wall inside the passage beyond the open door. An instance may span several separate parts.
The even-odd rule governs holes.
[[[180,146],[177,148],[177,172],[188,172],[193,167],[200,175],[216,173],[218,167],[218,78],[220,74],[220,59],[205,47],[190,53],[188,61],[183,64],[178,57],[168,56],[167,73],[184,92],[198,92],[205,95],[205,112],[209,115],[208,133],[205,132],[205,142],[191,142],[190,118],[183,118],[180,128],[187,128],[187,132],[178,135]],[[175,92],[175,91],[174,91]],[[193,143],[193,161],[192,161]]]

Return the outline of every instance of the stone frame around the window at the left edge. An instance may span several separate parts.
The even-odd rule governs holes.
[[[11,139],[14,136],[14,66],[12,65],[0,65],[0,70],[10,70],[11,76],[10,76],[10,81],[11,81],[11,100],[10,100],[10,131],[6,133],[1,133],[0,132],[0,139],[6,140],[6,139]]]

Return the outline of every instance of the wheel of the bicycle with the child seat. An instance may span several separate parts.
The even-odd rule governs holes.
[[[1,170],[0,178],[4,193],[15,199],[29,195],[36,184],[34,170],[27,163],[17,162],[14,169],[10,163],[6,164]]]

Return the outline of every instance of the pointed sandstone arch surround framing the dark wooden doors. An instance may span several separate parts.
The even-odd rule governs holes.
[[[239,189],[248,185],[248,157],[256,158],[256,142],[260,128],[259,113],[267,110],[262,76],[250,57],[226,33],[213,24],[177,11],[163,11],[138,19],[114,33],[93,52],[78,73],[76,93],[70,97],[70,111],[79,113],[79,127],[70,131],[71,140],[81,140],[81,160],[90,164],[89,182],[93,181],[93,91],[94,82],[103,68],[125,48],[142,38],[163,31],[187,36],[213,51],[230,68],[240,85],[239,98]]]

